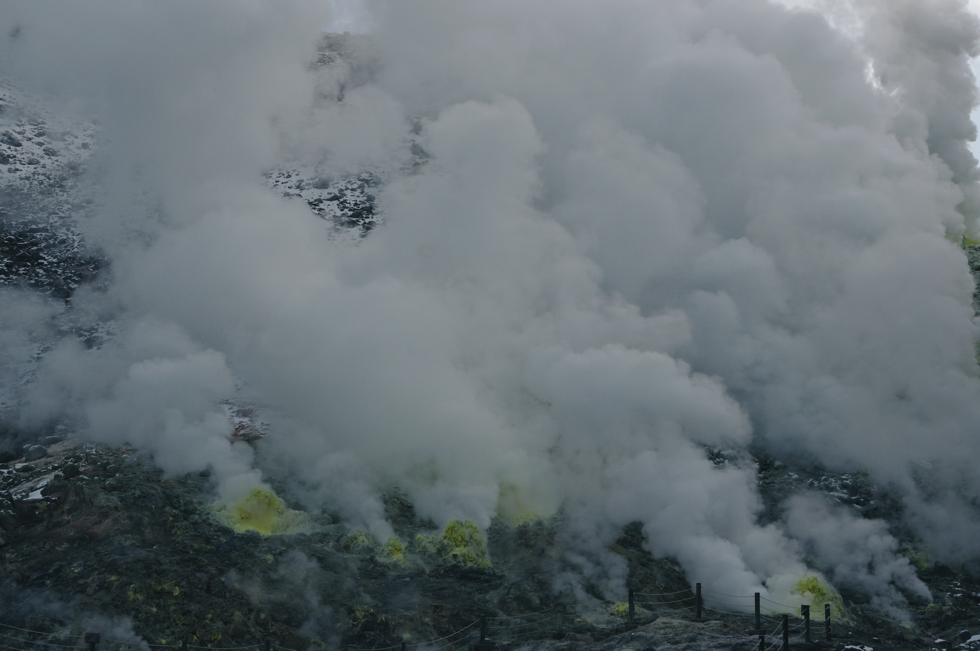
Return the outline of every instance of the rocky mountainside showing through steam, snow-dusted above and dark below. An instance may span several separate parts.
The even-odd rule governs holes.
[[[77,228],[93,209],[79,179],[97,151],[97,126],[76,121],[74,131],[59,130],[64,127],[52,126],[58,122],[43,106],[10,86],[4,91],[3,130],[11,135],[2,145],[9,167],[0,262],[8,270],[5,283],[66,302],[68,312],[52,320],[54,329],[64,331],[73,320],[73,291],[98,287],[110,269],[107,260],[85,248]],[[424,154],[414,153],[415,164],[424,163]],[[352,243],[380,223],[373,193],[385,180],[384,173],[370,169],[331,177],[316,165],[295,162],[282,163],[267,176],[271,189],[305,202],[311,218],[325,219],[329,232]],[[972,263],[980,247],[968,253]],[[980,275],[980,264],[972,267]],[[112,337],[113,325],[98,326],[98,332],[89,326],[74,333],[86,346],[98,347]],[[37,354],[44,349],[41,340]],[[20,380],[32,377],[28,364]],[[229,406],[228,413],[237,439],[262,441],[263,427],[252,410]],[[393,557],[367,533],[352,535],[336,515],[318,516],[308,533],[236,534],[215,511],[208,473],[165,477],[138,449],[77,439],[72,423],[8,430],[0,450],[0,481],[6,486],[0,492],[0,628],[11,648],[78,646],[77,636],[89,630],[119,638],[110,643],[114,648],[182,640],[229,647],[267,639],[290,649],[381,648],[403,639],[426,643],[466,629],[450,639],[456,648],[477,639],[477,628],[466,627],[481,616],[504,618],[491,621],[490,638],[515,648],[756,648],[756,638],[746,633],[751,616],[719,612],[733,606],[742,611],[751,600],[720,597],[713,604],[718,610],[706,611],[704,623],[692,622],[692,585],[675,563],[656,560],[643,548],[638,526],[623,532],[613,553],[626,561],[631,589],[666,596],[641,597],[652,602],[638,606],[640,628],[628,630],[625,595],[604,600],[599,586],[586,583],[579,612],[567,611],[564,637],[553,639],[558,625],[550,609],[562,602],[553,589],[564,569],[561,517],[519,525],[498,519],[487,530],[490,566],[481,568],[416,548],[417,535],[430,534],[435,525],[419,520],[397,491],[386,494],[385,514],[406,549]],[[720,466],[757,465],[765,519],[778,521],[787,496],[815,489],[865,517],[885,518],[904,540],[904,553],[917,563],[934,601],[913,601],[914,621],[907,629],[860,593],[842,591],[847,620],[836,626],[835,640],[932,648],[932,639],[956,637],[980,616],[980,568],[933,567],[919,557],[915,540],[902,529],[901,505],[867,477],[764,456],[740,460],[720,449],[707,453]],[[288,499],[287,484],[276,488]],[[658,605],[661,601],[666,603]],[[791,609],[777,607],[781,610]],[[519,613],[535,615],[511,618]],[[814,620],[822,620],[822,614]],[[822,634],[817,628],[814,639]],[[829,644],[834,645],[842,644]]]

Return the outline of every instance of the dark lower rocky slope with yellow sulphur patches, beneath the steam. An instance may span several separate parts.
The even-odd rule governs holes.
[[[640,593],[631,628],[625,595],[606,600],[586,582],[572,603],[574,597],[554,590],[564,570],[561,517],[519,525],[498,520],[484,546],[478,534],[467,537],[465,525],[435,531],[404,495],[390,491],[386,516],[401,545],[379,544],[328,516],[314,518],[305,533],[236,534],[214,510],[206,476],[165,478],[139,450],[91,445],[65,430],[44,444],[11,450],[11,443],[5,440],[0,480],[6,487],[0,492],[0,624],[17,627],[2,631],[15,648],[77,646],[80,638],[72,635],[99,630],[123,642],[160,645],[272,640],[289,649],[368,649],[464,630],[451,640],[451,648],[460,648],[476,641],[478,627],[469,625],[481,616],[491,618],[490,638],[515,648],[750,649],[758,643],[747,632],[751,617],[724,612],[732,606],[706,608],[704,621],[694,621],[691,585],[674,563],[643,549],[638,528],[627,528],[612,547],[628,565],[629,587]],[[771,459],[761,460],[760,484],[769,503],[801,488],[821,488],[858,506],[884,497],[860,478]],[[980,617],[980,577],[970,570],[924,566],[919,576],[934,600],[913,605],[908,628],[845,592],[847,619],[835,617],[834,639],[824,646],[843,639],[926,649],[935,639],[965,641]],[[560,604],[564,635],[556,636]],[[764,628],[772,632],[781,609],[769,607],[776,610],[765,611]],[[822,617],[814,619],[819,641]],[[792,626],[794,637],[802,634],[799,618]],[[129,637],[120,637],[120,629]]]

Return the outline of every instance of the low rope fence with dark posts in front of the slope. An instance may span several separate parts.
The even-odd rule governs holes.
[[[705,594],[709,595],[706,598]],[[724,597],[723,599],[718,597]],[[734,600],[734,601],[729,601]],[[782,610],[763,607],[762,602],[777,606]],[[554,637],[560,639],[566,632],[621,632],[638,628],[655,621],[659,616],[671,615],[689,618],[693,622],[704,622],[705,615],[735,618],[749,625],[743,633],[718,634],[704,629],[700,632],[709,637],[730,639],[744,634],[759,638],[760,651],[781,649],[789,651],[792,643],[811,644],[814,635],[824,640],[832,637],[830,604],[824,604],[823,621],[810,620],[810,607],[807,604],[799,609],[787,604],[755,594],[728,594],[703,588],[695,583],[694,589],[673,592],[640,592],[630,590],[626,595],[613,599],[595,599],[578,603],[555,604],[542,610],[518,615],[484,616],[453,632],[419,642],[403,640],[388,646],[361,648],[348,645],[347,651],[408,651],[417,647],[432,647],[455,651],[468,645],[473,651],[489,651],[495,646],[522,644],[531,638]],[[793,621],[790,621],[793,617]],[[717,619],[716,617],[714,619]],[[763,629],[762,626],[766,627]],[[775,625],[774,628],[773,625]],[[771,630],[767,630],[772,628]],[[37,639],[31,637],[37,636]],[[477,641],[478,640],[478,641]],[[317,640],[314,640],[315,642]],[[99,645],[103,646],[99,649]],[[180,651],[298,651],[285,646],[272,644],[266,640],[259,644],[246,646],[201,646],[181,641],[175,644],[150,644],[144,641],[121,640],[102,637],[98,632],[67,634],[43,632],[30,628],[19,628],[0,623],[0,651],[30,651],[31,649],[60,648],[83,651],[111,651],[113,645],[141,649],[180,649]],[[87,650],[85,649],[87,647]]]

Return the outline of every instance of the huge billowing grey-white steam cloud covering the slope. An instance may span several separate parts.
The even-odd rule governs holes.
[[[900,622],[909,558],[976,559],[961,4],[392,3],[325,39],[301,2],[93,7],[0,19],[21,439],[379,543],[393,488],[439,528],[559,515],[578,598],[635,523],[720,592],[816,575]]]

